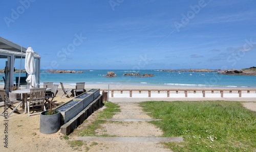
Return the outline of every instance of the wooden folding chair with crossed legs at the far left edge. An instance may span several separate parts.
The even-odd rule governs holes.
[[[1,116],[4,117],[9,117],[13,112],[18,113],[18,114],[22,114],[22,111],[17,110],[17,107],[19,105],[22,104],[22,101],[20,101],[16,106],[13,105],[13,103],[10,101],[9,97],[7,96],[5,90],[0,90],[0,96],[3,99],[3,101],[5,102],[5,110],[0,114]],[[7,108],[6,108],[7,107]],[[10,113],[7,112],[8,108],[10,108],[12,111]]]

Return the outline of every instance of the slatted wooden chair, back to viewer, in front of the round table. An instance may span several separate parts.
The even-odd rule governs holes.
[[[30,98],[27,101],[28,115],[40,114],[42,111],[46,111],[45,107],[46,88],[33,88],[30,89]],[[32,111],[32,114],[30,114]],[[34,113],[36,111],[36,113]]]

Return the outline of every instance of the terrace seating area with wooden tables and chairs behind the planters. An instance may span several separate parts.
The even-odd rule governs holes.
[[[42,111],[49,110],[51,107],[58,107],[73,99],[75,96],[86,92],[84,82],[77,83],[72,89],[65,89],[63,83],[44,82],[40,88],[30,89],[30,85],[20,85],[18,90],[12,91],[10,95],[19,94],[19,97],[8,97],[6,92],[1,91],[1,100],[8,97],[8,108],[10,112],[8,117],[13,113],[28,113],[29,116],[40,114]],[[9,95],[9,96],[10,96]],[[3,97],[2,97],[3,96]],[[67,97],[67,98],[65,98]],[[0,101],[0,106],[4,105],[6,100]],[[3,114],[4,115],[4,114]]]

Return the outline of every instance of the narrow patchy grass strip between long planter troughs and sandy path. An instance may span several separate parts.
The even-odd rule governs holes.
[[[84,127],[83,129],[76,130],[78,136],[97,136],[95,130],[100,128],[100,124],[105,123],[105,120],[113,117],[114,112],[120,112],[119,106],[112,102],[104,102],[106,108],[99,113],[94,122]],[[106,135],[103,135],[106,136]]]

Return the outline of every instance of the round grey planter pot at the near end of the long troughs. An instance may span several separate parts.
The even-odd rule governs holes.
[[[57,111],[57,110],[55,110]],[[60,128],[60,112],[54,115],[45,115],[48,111],[40,114],[40,133],[53,134]]]

